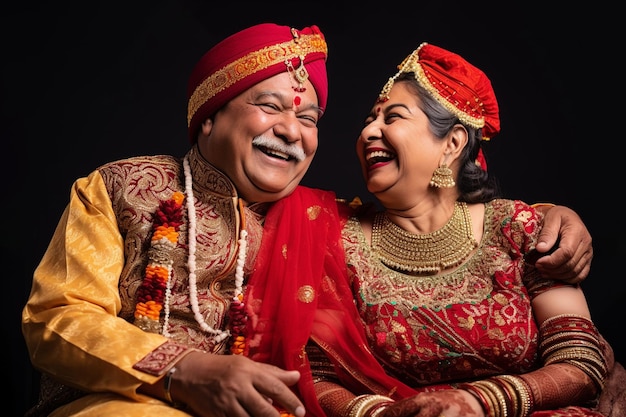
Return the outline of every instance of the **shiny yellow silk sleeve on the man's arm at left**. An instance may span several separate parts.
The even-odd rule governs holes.
[[[124,243],[98,171],[77,180],[33,276],[22,331],[33,366],[66,384],[138,398],[133,369],[167,341],[117,316]]]

